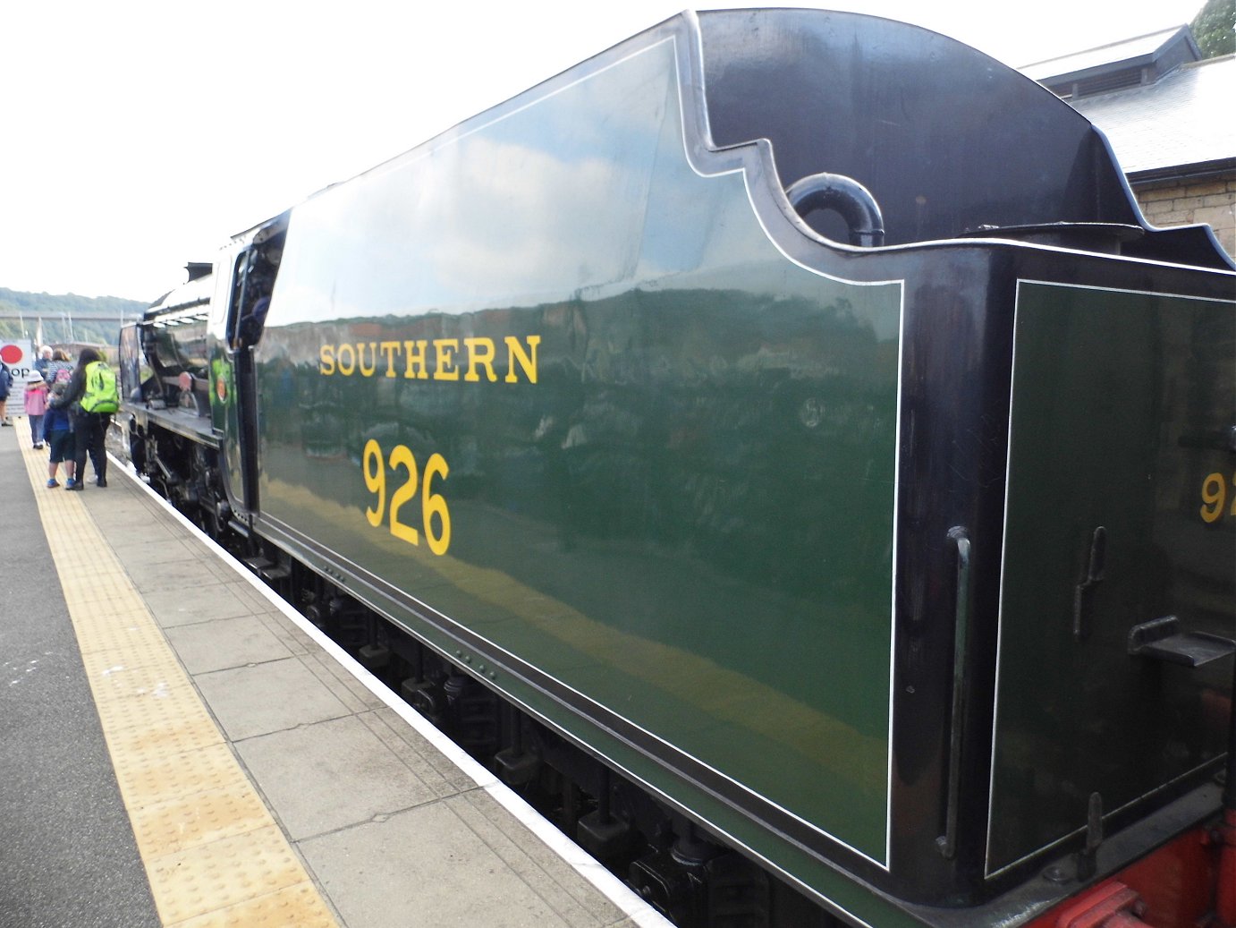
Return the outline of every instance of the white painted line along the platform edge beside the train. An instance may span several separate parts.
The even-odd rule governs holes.
[[[334,657],[344,669],[346,669],[361,685],[368,689],[375,697],[400,719],[417,730],[417,733],[440,751],[451,763],[459,767],[478,787],[485,789],[507,812],[515,817],[525,828],[535,834],[550,850],[570,865],[575,872],[587,880],[602,896],[613,902],[623,914],[630,918],[640,928],[672,928],[656,909],[641,900],[633,890],[622,882],[617,876],[606,870],[595,857],[590,856],[582,848],[559,831],[539,812],[529,806],[523,798],[515,794],[502,783],[493,773],[487,771],[472,757],[470,757],[454,741],[447,739],[433,724],[417,713],[412,707],[396,697],[387,687],[379,683],[373,676],[344,648],[324,635],[313,622],[300,612],[288,605],[278,594],[268,588],[261,579],[246,570],[224,548],[190,522],[167,500],[154,492],[142,481],[133,469],[126,463],[109,453],[112,464],[122,471],[125,476],[137,484],[151,499],[158,501],[163,510],[171,513],[194,537],[209,546],[215,553],[221,556],[221,561],[241,578],[243,578],[255,590],[262,594],[271,605],[277,608],[288,620],[294,622],[305,635],[314,640],[326,653]]]

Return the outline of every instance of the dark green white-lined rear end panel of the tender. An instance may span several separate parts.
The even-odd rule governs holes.
[[[1236,632],[1236,311],[1022,282],[989,870],[1162,804],[1225,751],[1230,657],[1130,655],[1131,631]]]

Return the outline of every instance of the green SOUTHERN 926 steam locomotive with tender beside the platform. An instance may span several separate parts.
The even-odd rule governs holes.
[[[684,14],[190,276],[138,470],[679,923],[1236,923],[1236,273],[1037,84]]]

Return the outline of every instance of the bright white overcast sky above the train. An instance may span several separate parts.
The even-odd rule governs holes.
[[[822,2],[1021,66],[1204,0]],[[795,2],[708,2],[726,6]],[[0,10],[0,287],[153,299],[234,233],[512,97],[674,0],[174,0]]]

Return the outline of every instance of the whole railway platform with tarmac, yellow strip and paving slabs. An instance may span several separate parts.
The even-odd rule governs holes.
[[[667,924],[124,465],[48,489],[14,422],[2,928]]]

